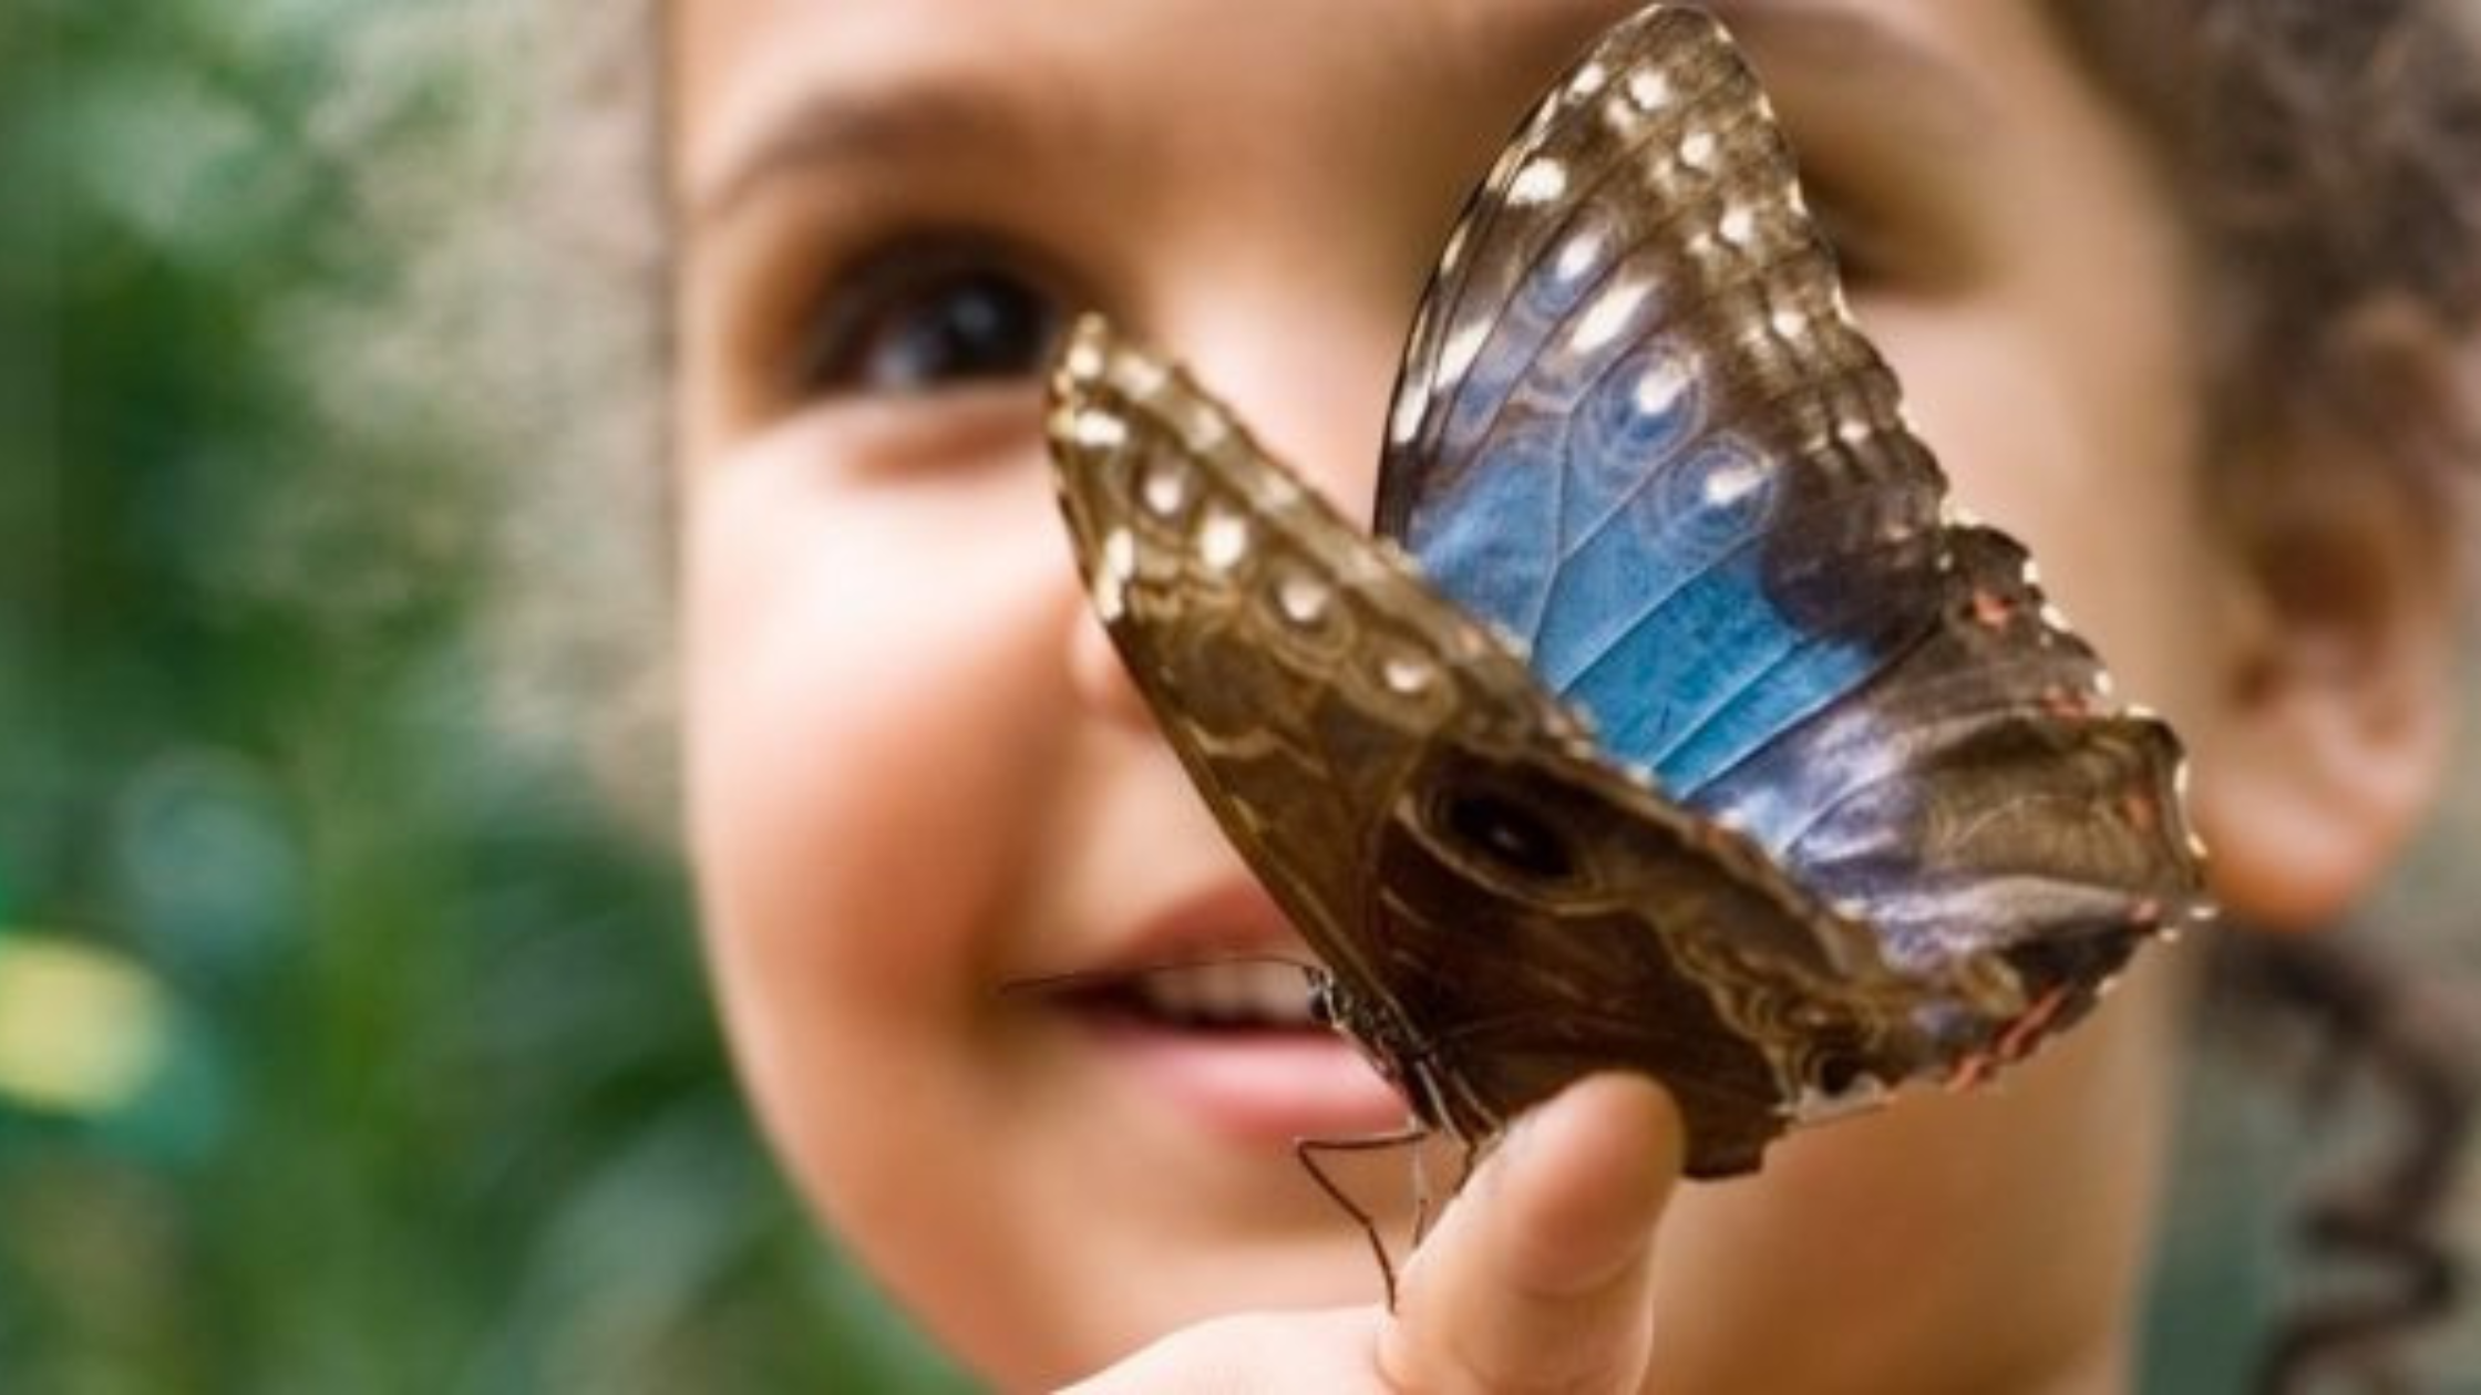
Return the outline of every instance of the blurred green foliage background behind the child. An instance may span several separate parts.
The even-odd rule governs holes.
[[[385,10],[0,10],[0,1390],[955,1390],[754,1144],[677,869],[484,720],[476,434],[305,352],[422,236],[320,134]],[[412,89],[352,159],[464,129]],[[2161,1390],[2285,1293],[2297,1124],[2198,1117]]]

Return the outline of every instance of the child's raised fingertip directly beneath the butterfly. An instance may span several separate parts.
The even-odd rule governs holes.
[[[1680,1159],[1680,1115],[1632,1075],[1573,1085],[1518,1122],[1404,1271],[1379,1338],[1389,1385],[1637,1390]]]

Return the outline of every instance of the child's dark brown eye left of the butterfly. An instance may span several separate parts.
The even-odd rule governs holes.
[[[829,295],[801,345],[804,395],[930,395],[1027,380],[1059,340],[1064,310],[1045,278],[997,251],[896,251]]]

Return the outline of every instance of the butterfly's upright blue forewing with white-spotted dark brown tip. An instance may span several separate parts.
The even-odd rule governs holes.
[[[1940,496],[1754,77],[1704,15],[1615,30],[1441,258],[1379,531],[1692,792],[1925,628]]]

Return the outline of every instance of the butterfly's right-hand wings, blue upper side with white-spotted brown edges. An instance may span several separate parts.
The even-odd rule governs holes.
[[[2020,1052],[2203,904],[2176,740],[2114,710],[2017,544],[1950,521],[1702,12],[1605,35],[1474,196],[1377,524],[1613,760],[1876,926],[1948,1040]],[[1938,1000],[1990,971],[2017,993]]]

